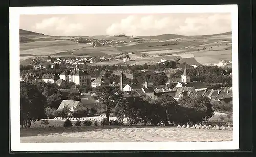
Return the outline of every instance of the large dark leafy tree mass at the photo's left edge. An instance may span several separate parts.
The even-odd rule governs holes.
[[[46,97],[40,93],[35,85],[20,82],[20,125],[25,128],[31,122],[45,117]]]

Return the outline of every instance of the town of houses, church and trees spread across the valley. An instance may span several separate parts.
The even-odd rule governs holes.
[[[232,111],[232,68],[226,67],[225,61],[221,61],[219,66],[192,66],[165,59],[156,65],[90,66],[94,60],[105,59],[108,58],[48,57],[45,64],[33,60],[33,66],[20,65],[20,83],[27,82],[39,89],[46,97],[46,116],[54,120],[84,120],[84,117],[98,116],[102,117],[98,120],[106,118],[109,122],[120,115],[118,106],[109,110],[108,102],[104,103],[105,100],[100,101],[95,96],[109,88],[118,89],[117,93],[125,98],[142,98],[153,104],[166,96],[173,98],[178,105],[183,99],[207,97],[215,112]],[[129,61],[129,56],[124,56],[123,61]],[[66,113],[62,113],[65,107]],[[211,116],[210,113],[209,118]],[[127,119],[123,120],[127,123]],[[160,121],[147,120],[145,124],[158,125]],[[185,124],[188,121],[176,122]],[[136,124],[129,122],[129,125],[133,123]],[[168,123],[174,121],[169,119],[165,125]]]

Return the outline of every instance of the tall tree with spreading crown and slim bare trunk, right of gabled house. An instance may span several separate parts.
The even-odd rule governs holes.
[[[112,109],[122,103],[123,93],[116,86],[98,86],[95,88],[94,93],[93,99],[105,105],[106,120],[109,122]]]

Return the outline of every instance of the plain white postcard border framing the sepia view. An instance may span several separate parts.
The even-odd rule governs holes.
[[[186,6],[80,6],[10,7],[10,142],[11,151],[84,150],[234,150],[239,149],[238,8],[237,5]],[[115,13],[231,13],[233,67],[233,141],[228,142],[112,142],[20,143],[19,124],[19,16],[21,14],[115,14]]]

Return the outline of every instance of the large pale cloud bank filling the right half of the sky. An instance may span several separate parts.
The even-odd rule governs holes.
[[[202,35],[231,31],[230,14],[191,14],[187,16],[130,15],[112,23],[106,33],[109,35]]]

